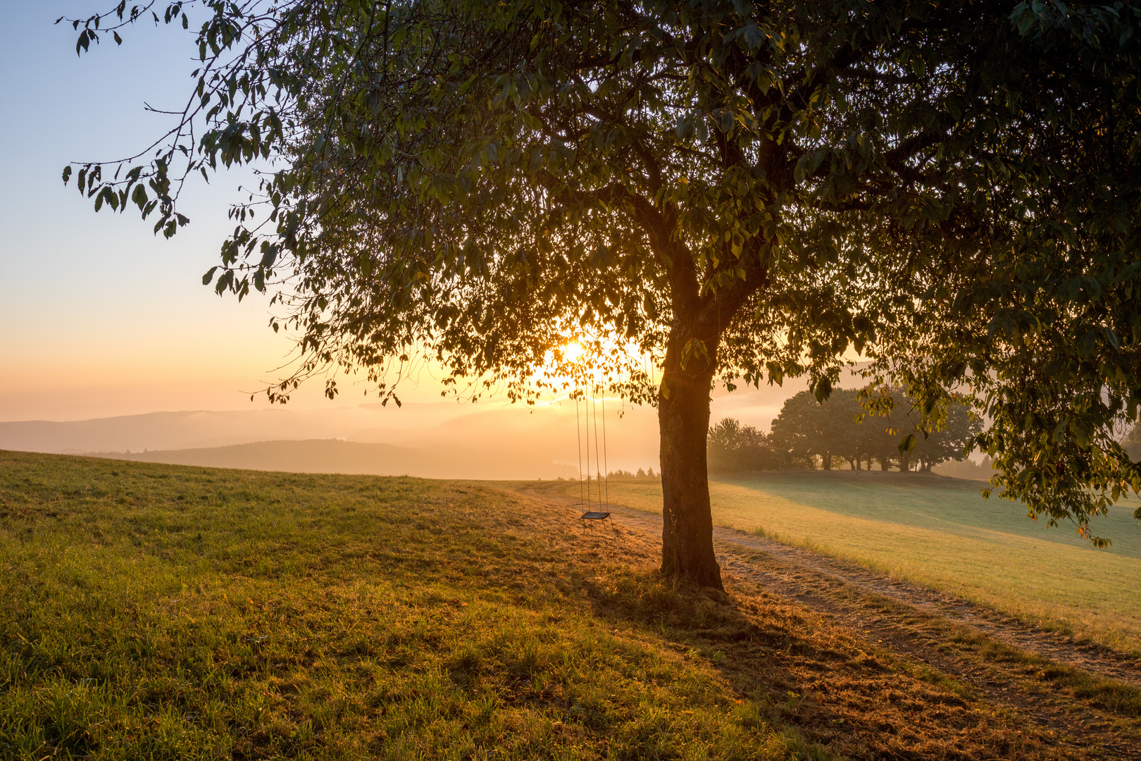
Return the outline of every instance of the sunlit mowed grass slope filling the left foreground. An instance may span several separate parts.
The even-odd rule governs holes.
[[[529,513],[470,484],[0,452],[0,758],[831,758],[671,641],[675,592]]]

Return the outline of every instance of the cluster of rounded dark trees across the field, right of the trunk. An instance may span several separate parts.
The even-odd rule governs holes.
[[[970,439],[981,430],[981,421],[970,408],[953,403],[939,430],[923,435],[916,429],[919,413],[906,395],[891,410],[867,411],[859,392],[836,389],[824,403],[809,391],[787,399],[764,434],[738,420],[726,418],[710,428],[710,472],[744,472],[790,468],[832,470],[845,464],[852,470],[930,471],[947,460],[963,460]],[[900,444],[913,435],[912,447]]]

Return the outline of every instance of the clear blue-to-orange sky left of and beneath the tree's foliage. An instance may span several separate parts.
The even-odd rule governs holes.
[[[240,303],[201,284],[230,228],[228,203],[251,175],[191,184],[181,200],[191,225],[170,241],[154,236],[137,212],[95,213],[74,184],[60,181],[68,162],[148,145],[170,118],[147,113],[144,103],[173,107],[191,87],[195,49],[180,29],[144,24],[123,34],[122,46],[105,37],[78,57],[75,32],[54,25],[58,16],[111,5],[10,3],[0,27],[0,421],[264,408],[264,397],[251,402],[250,394],[276,378],[292,343],[267,327],[265,297]],[[435,410],[435,421],[439,388],[424,375],[402,396],[411,408]],[[718,395],[713,419],[733,414],[767,428],[796,388]],[[362,390],[342,384],[331,403],[316,382],[290,406],[356,405],[370,400]],[[656,438],[653,414],[634,419],[641,423],[631,436]],[[656,450],[656,442],[640,450]]]

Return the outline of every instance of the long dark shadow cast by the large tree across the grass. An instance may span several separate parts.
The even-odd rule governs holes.
[[[594,615],[672,642],[774,723],[858,759],[1046,759],[1057,747],[922,665],[875,651],[827,618],[766,594],[682,586],[613,566],[584,584]]]

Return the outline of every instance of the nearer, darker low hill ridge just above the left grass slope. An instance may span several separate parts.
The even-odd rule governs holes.
[[[524,452],[461,447],[416,448],[338,439],[256,442],[155,452],[98,452],[92,456],[207,468],[243,468],[308,473],[416,476],[420,478],[576,478],[570,465]]]

